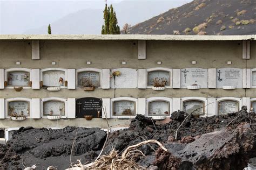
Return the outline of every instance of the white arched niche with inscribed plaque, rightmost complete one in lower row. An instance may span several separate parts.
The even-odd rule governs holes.
[[[237,97],[221,97],[216,99],[216,112],[218,115],[227,115],[242,108],[242,99]]]

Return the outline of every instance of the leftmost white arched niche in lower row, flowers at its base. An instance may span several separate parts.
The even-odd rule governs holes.
[[[10,118],[11,112],[17,112],[18,115],[23,111],[26,118],[30,118],[32,105],[30,98],[15,97],[5,99],[5,118]],[[16,111],[17,110],[17,111]]]

